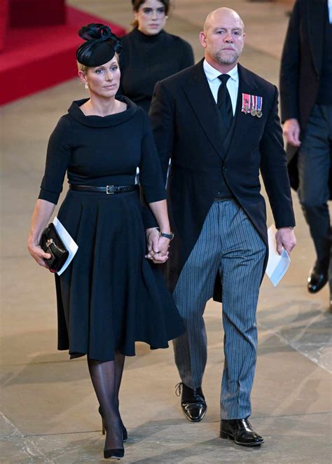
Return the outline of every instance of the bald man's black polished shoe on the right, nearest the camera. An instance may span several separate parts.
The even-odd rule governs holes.
[[[241,446],[258,446],[264,443],[261,435],[252,430],[248,419],[222,420],[220,437],[233,439],[236,444]]]

